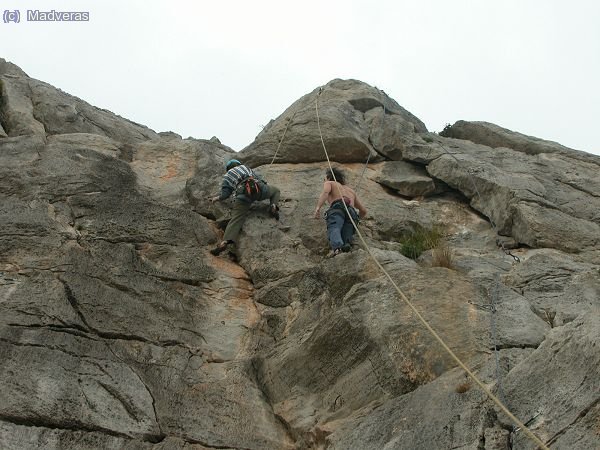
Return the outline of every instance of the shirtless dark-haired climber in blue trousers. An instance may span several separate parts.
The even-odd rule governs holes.
[[[319,218],[321,207],[325,201],[329,204],[329,209],[325,212],[325,220],[327,221],[329,245],[333,251],[332,256],[341,252],[349,252],[352,249],[354,226],[348,213],[352,216],[354,223],[358,225],[359,219],[367,215],[367,210],[358,199],[356,192],[345,185],[345,176],[340,169],[327,169],[325,172],[323,191],[315,208],[315,219]],[[355,208],[358,209],[358,213]]]

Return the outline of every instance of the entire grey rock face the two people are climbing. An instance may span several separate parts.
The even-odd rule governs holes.
[[[593,155],[491,124],[427,133],[382,91],[333,80],[238,154],[281,189],[282,217],[252,207],[236,264],[208,252],[231,149],[155,133],[4,60],[0,80],[1,448],[535,448],[373,257],[544,442],[598,447]],[[369,211],[369,251],[332,259],[311,218],[317,99]],[[417,228],[443,230],[449,267],[438,248],[403,256]]]

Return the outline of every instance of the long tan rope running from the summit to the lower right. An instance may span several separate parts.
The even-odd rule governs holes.
[[[325,146],[325,141],[323,140],[323,133],[321,131],[321,122],[320,122],[320,118],[319,118],[319,97],[321,96],[322,91],[323,91],[323,88],[320,88],[319,93],[317,94],[317,98],[315,100],[315,110],[316,110],[316,114],[317,114],[317,126],[319,128],[319,136],[321,138],[321,144],[323,145],[323,151],[325,152],[325,158],[327,159],[327,164],[329,165],[329,170],[332,173],[334,181],[337,183],[337,180],[335,178],[335,173],[333,172],[333,166],[331,165],[331,160],[329,159],[329,153],[327,152],[327,147]],[[452,349],[450,349],[450,347],[448,347],[448,345],[446,344],[446,342],[444,342],[444,340],[440,337],[440,335],[431,327],[431,325],[429,325],[427,320],[425,320],[425,318],[421,315],[421,313],[419,313],[417,308],[415,308],[415,306],[408,299],[408,297],[404,294],[404,292],[402,292],[402,290],[398,287],[398,285],[393,280],[393,278],[390,276],[390,274],[387,272],[387,270],[385,270],[385,268],[377,260],[375,255],[373,255],[371,248],[369,247],[369,245],[363,238],[363,235],[360,232],[360,230],[358,229],[358,226],[356,225],[356,223],[354,222],[354,219],[352,219],[352,216],[350,215],[350,211],[348,211],[348,206],[346,205],[345,202],[342,202],[342,204],[344,205],[344,209],[346,210],[346,215],[350,218],[350,221],[352,222],[354,231],[356,231],[356,234],[360,238],[360,241],[364,245],[364,247],[365,247],[367,253],[369,254],[369,256],[371,257],[371,259],[375,262],[377,267],[379,267],[379,269],[381,269],[381,271],[386,276],[388,281],[392,284],[394,289],[396,289],[396,292],[398,292],[398,295],[400,296],[400,298],[412,310],[412,312],[415,314],[415,316],[417,316],[417,318],[423,324],[423,326],[427,329],[427,331],[429,331],[429,333],[438,341],[438,343],[442,346],[442,348],[450,355],[450,357],[452,357],[452,359],[467,373],[467,375],[469,375],[469,377],[471,377],[471,379],[496,404],[496,406],[498,406],[498,408],[500,408],[504,412],[504,414],[506,414],[506,416],[508,418],[510,418],[510,420],[512,420],[517,425],[518,428],[520,428],[523,432],[525,432],[527,434],[527,436],[529,438],[531,438],[531,440],[534,441],[540,448],[542,448],[543,450],[549,450],[548,447],[546,447],[546,445],[535,434],[533,434],[531,432],[531,430],[529,430],[529,428],[527,428],[525,426],[525,424],[523,424],[519,419],[517,419],[514,416],[514,414],[512,414],[508,410],[508,408],[506,406],[504,406],[504,404],[483,384],[483,382],[473,372],[471,372],[471,370],[465,365],[465,363],[463,363],[460,360],[460,358],[458,356],[456,356],[456,354],[452,351]]]

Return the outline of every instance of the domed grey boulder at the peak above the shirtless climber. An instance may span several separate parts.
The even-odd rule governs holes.
[[[315,121],[317,106],[319,124]],[[381,115],[385,119],[377,119]],[[381,131],[380,121],[389,129]],[[364,162],[376,157],[376,150],[384,154],[394,151],[403,136],[413,139],[415,133],[425,132],[427,129],[419,119],[383,91],[356,80],[333,80],[305,95],[271,121],[242,150],[240,157],[258,166],[270,163],[279,148],[277,163],[322,161],[322,135],[332,159]],[[384,144],[388,135],[395,138],[393,148]],[[285,145],[280,145],[282,139]]]

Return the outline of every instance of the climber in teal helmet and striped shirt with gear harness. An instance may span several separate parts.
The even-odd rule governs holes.
[[[255,171],[242,164],[237,159],[230,159],[225,164],[225,175],[221,183],[221,194],[211,197],[210,202],[228,199],[235,195],[235,203],[231,213],[231,220],[225,228],[223,241],[212,249],[213,255],[219,255],[228,250],[235,257],[235,246],[238,235],[246,221],[250,206],[255,201],[269,200],[269,214],[279,220],[279,189],[268,185],[267,182]]]

